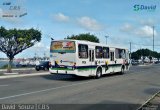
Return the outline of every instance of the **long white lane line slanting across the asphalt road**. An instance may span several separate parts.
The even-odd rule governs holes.
[[[92,81],[95,81],[95,80],[92,80]],[[56,90],[56,89],[61,89],[61,88],[66,88],[66,87],[71,87],[71,86],[76,86],[76,85],[81,85],[81,84],[86,84],[86,83],[89,83],[89,82],[91,82],[91,81],[87,81],[87,82],[83,82],[83,83],[76,83],[76,84],[71,84],[71,85],[66,85],[66,86],[60,86],[60,87],[54,87],[54,88],[50,88],[50,89],[43,89],[43,90],[34,91],[34,92],[27,92],[27,93],[17,94],[17,95],[12,95],[12,96],[7,96],[7,97],[1,97],[0,100],[10,99],[10,98],[15,98],[15,97],[40,93],[40,92],[46,92],[46,91],[50,91],[50,90]]]

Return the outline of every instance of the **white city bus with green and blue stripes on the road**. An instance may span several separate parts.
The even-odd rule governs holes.
[[[50,73],[95,76],[129,69],[129,53],[125,48],[82,40],[52,41]]]

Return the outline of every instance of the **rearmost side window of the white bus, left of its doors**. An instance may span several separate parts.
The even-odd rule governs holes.
[[[87,45],[79,44],[78,50],[79,50],[78,52],[79,58],[88,58],[88,46]]]

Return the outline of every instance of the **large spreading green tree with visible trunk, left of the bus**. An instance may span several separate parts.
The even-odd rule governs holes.
[[[0,27],[0,51],[9,58],[8,72],[15,55],[41,41],[41,32],[33,28],[28,30],[5,29]]]

